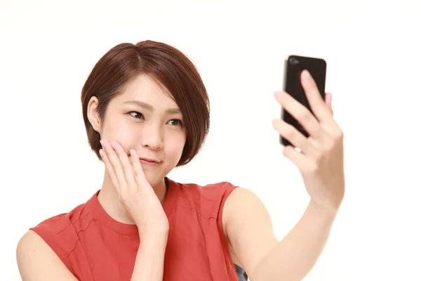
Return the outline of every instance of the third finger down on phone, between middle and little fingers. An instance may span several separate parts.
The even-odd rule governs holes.
[[[298,131],[298,129],[295,129],[294,126],[281,119],[275,119],[272,124],[274,129],[276,129],[283,138],[286,138],[296,148],[299,148],[303,154],[309,155],[310,157],[316,155],[313,143]]]

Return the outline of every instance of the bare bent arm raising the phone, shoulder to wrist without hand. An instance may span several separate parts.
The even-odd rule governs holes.
[[[264,204],[245,188],[229,195],[222,216],[229,242],[252,281],[302,280],[319,259],[334,218],[331,211],[310,202],[279,242]]]

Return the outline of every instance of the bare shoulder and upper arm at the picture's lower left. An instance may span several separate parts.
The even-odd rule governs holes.
[[[16,259],[22,281],[76,281],[53,249],[32,230],[20,238]]]

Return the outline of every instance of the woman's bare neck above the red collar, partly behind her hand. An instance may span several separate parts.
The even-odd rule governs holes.
[[[159,201],[163,203],[167,191],[164,179],[159,185],[153,186],[152,188],[154,188]],[[98,201],[100,202],[102,208],[104,208],[105,212],[114,218],[114,220],[121,223],[134,224],[131,216],[129,216],[126,209],[124,209],[123,204],[120,202],[119,195],[106,172],[104,173],[102,188],[98,194]]]

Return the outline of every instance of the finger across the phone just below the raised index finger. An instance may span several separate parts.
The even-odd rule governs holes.
[[[274,96],[283,109],[294,117],[310,136],[313,136],[314,138],[319,138],[321,136],[323,131],[319,121],[305,105],[302,105],[298,100],[295,100],[295,98],[286,92],[275,92]]]

